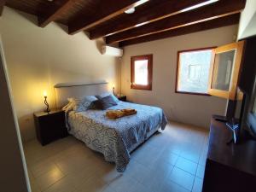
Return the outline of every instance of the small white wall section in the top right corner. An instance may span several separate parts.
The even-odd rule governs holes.
[[[241,12],[238,39],[256,35],[256,0],[247,0],[246,7]]]

